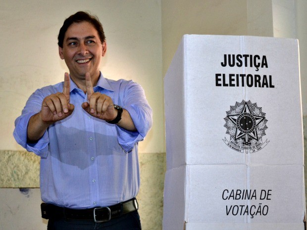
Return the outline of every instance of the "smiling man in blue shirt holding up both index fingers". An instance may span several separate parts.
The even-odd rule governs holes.
[[[42,216],[49,230],[139,230],[138,141],[152,109],[133,81],[103,78],[102,25],[77,12],[58,35],[69,74],[28,99],[14,138],[41,157]]]

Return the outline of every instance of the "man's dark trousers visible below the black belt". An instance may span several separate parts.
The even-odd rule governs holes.
[[[141,221],[138,211],[124,214],[103,223],[66,220],[65,218],[50,219],[48,230],[141,230]]]

